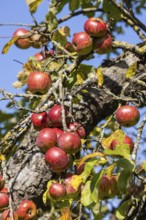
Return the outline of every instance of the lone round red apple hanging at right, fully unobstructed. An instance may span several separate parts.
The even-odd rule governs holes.
[[[139,110],[135,106],[124,105],[116,111],[116,120],[123,127],[132,127],[140,119]]]

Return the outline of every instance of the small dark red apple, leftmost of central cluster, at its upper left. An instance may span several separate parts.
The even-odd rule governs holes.
[[[36,130],[49,127],[49,117],[47,112],[32,113],[31,122]]]

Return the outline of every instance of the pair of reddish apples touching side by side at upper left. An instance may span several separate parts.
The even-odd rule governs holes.
[[[13,34],[13,38],[16,38],[15,45],[20,49],[28,49],[29,47],[37,49],[48,42],[45,36],[39,33],[32,33],[25,28],[17,29]]]

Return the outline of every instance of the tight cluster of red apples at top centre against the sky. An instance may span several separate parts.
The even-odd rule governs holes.
[[[112,38],[101,18],[89,18],[84,23],[84,32],[75,33],[72,43],[68,42],[65,48],[69,52],[77,52],[79,56],[89,54],[91,51],[105,54],[112,48]]]

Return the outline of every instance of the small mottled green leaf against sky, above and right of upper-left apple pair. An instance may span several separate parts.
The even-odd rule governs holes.
[[[48,31],[52,32],[58,26],[58,20],[52,11],[46,15],[46,22],[48,23]]]

